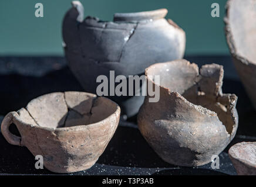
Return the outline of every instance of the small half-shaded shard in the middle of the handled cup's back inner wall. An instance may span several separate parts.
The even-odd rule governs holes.
[[[85,92],[65,92],[64,94],[68,108],[75,110],[80,115],[90,112],[96,98],[95,94]]]

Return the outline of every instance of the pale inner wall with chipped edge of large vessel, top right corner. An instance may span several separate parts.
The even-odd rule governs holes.
[[[256,65],[256,1],[230,0],[225,18],[231,53]]]

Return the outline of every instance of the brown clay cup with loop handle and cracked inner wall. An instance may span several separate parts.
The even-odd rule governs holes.
[[[43,156],[52,172],[68,173],[92,167],[119,123],[120,108],[110,99],[86,92],[55,92],[33,99],[26,108],[2,121],[5,139]],[[14,123],[21,134],[9,131]]]

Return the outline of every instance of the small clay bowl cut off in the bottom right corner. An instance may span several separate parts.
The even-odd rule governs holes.
[[[256,175],[256,142],[241,142],[228,150],[238,175]]]

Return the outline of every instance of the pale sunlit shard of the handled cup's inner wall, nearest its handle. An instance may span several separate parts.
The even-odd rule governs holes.
[[[61,92],[33,99],[26,109],[39,126],[53,128],[62,127],[68,113],[64,93]]]

